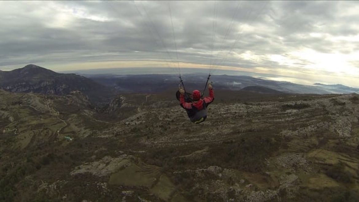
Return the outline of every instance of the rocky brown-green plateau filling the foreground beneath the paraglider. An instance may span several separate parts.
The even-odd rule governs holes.
[[[172,94],[0,90],[0,201],[358,201],[358,95]]]

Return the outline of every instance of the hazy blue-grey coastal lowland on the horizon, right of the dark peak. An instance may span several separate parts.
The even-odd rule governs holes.
[[[127,93],[154,93],[165,89],[178,87],[180,79],[173,74],[143,74],[143,75],[90,75],[83,76],[93,79],[98,83],[116,88],[120,92]],[[182,75],[183,82],[188,91],[204,89],[208,75],[193,73]],[[250,76],[236,75],[212,75],[211,80],[216,89],[238,91],[249,86],[261,86],[283,93],[305,94],[331,94],[331,93],[359,93],[359,88],[351,88],[343,85],[318,85],[312,86],[295,84],[291,82],[270,81]],[[257,89],[261,91],[260,89]]]

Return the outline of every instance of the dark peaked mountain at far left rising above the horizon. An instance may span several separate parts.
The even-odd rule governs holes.
[[[94,102],[108,101],[112,89],[76,74],[61,74],[29,64],[9,72],[0,72],[0,89],[10,92],[67,95],[85,93]]]

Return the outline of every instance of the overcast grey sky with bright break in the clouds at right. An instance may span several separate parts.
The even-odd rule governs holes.
[[[0,70],[238,70],[359,87],[359,1],[0,1]]]

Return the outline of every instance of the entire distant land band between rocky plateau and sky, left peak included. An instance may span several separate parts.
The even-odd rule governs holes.
[[[208,74],[183,74],[187,91],[203,90]],[[243,91],[262,94],[279,93],[359,93],[359,88],[341,84],[312,86],[291,82],[269,81],[250,76],[212,75],[215,89]],[[64,74],[56,73],[37,65],[29,64],[12,71],[0,71],[0,89],[11,92],[33,92],[42,94],[67,95],[81,91],[92,102],[108,103],[116,94],[172,92],[178,88],[180,80],[174,74]]]

